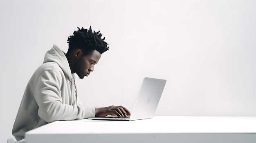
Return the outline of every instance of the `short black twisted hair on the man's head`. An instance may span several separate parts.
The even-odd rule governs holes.
[[[89,27],[89,30],[80,29],[74,31],[73,35],[70,35],[67,38],[67,43],[69,45],[67,53],[70,51],[80,48],[84,55],[89,54],[90,52],[97,50],[99,53],[104,53],[109,50],[108,43],[105,42],[105,37],[101,38],[102,34],[100,31],[92,32],[92,26]]]

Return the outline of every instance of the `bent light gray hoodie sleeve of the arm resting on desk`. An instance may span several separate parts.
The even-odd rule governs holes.
[[[62,103],[62,82],[54,70],[45,70],[39,75],[34,88],[39,117],[47,122],[94,117],[94,108]]]

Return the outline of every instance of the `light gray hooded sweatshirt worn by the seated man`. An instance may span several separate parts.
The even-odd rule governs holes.
[[[67,58],[54,45],[27,84],[12,134],[19,141],[25,132],[49,122],[94,116],[95,108],[81,106]]]

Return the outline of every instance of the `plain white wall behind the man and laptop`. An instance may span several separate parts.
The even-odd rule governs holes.
[[[87,106],[132,110],[143,77],[167,79],[156,115],[256,115],[255,0],[1,0],[0,142],[34,70],[76,27],[110,45],[78,80]]]

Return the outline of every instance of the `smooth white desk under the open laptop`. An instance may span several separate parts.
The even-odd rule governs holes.
[[[256,117],[154,117],[137,121],[55,121],[26,143],[256,143]]]

